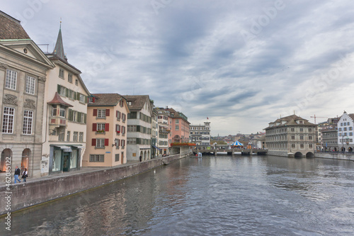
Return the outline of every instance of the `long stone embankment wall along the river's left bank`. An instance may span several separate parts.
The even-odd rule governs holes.
[[[176,159],[189,156],[186,152],[182,153],[94,172],[73,173],[50,179],[33,179],[32,181],[27,181],[26,184],[22,184],[22,182],[21,184],[13,184],[10,189],[6,189],[6,186],[1,186],[0,215],[125,179],[163,164],[169,164],[169,162],[173,162]],[[10,198],[6,198],[6,196],[10,196]],[[6,210],[8,203],[10,203],[11,210]]]

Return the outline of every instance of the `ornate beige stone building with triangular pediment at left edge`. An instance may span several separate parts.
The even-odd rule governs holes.
[[[0,11],[0,176],[16,166],[40,176],[46,74],[53,67],[20,21]]]

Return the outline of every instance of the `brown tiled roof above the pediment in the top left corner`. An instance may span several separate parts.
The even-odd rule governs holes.
[[[21,26],[21,22],[0,11],[0,40],[1,39],[30,39]]]

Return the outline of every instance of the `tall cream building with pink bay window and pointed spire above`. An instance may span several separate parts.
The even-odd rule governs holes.
[[[59,29],[55,50],[47,54],[55,64],[47,74],[43,112],[41,174],[69,172],[81,167],[86,148],[87,90],[81,72],[69,64]]]

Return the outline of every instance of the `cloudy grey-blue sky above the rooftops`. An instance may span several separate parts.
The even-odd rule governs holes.
[[[91,93],[148,94],[212,135],[262,132],[294,112],[354,113],[353,0],[2,1]],[[47,50],[47,47],[41,47]]]

